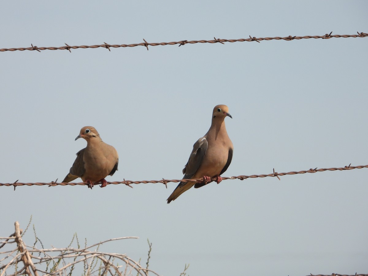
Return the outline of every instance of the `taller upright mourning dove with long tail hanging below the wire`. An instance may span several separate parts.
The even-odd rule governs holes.
[[[167,198],[168,204],[193,185],[194,188],[202,187],[211,182],[212,177],[217,178],[217,184],[222,181],[220,175],[227,170],[233,158],[233,143],[225,128],[226,116],[233,118],[226,105],[216,105],[213,108],[211,127],[204,137],[195,142],[189,160],[183,169],[183,179],[203,177],[204,181],[180,182]]]

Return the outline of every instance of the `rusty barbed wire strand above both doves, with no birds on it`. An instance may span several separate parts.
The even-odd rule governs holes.
[[[0,49],[0,52],[6,52],[6,51],[24,51],[24,50],[29,50],[29,51],[38,51],[41,52],[41,50],[68,50],[71,53],[70,49],[78,49],[78,48],[82,48],[82,49],[86,49],[86,48],[99,48],[99,47],[103,47],[108,49],[110,52],[110,48],[119,48],[119,47],[135,47],[135,46],[145,46],[148,50],[148,46],[158,46],[158,45],[176,45],[179,44],[179,46],[185,45],[185,44],[195,44],[195,43],[222,43],[225,44],[224,42],[244,42],[244,41],[256,41],[258,43],[260,43],[262,40],[286,40],[286,41],[290,41],[290,40],[294,40],[294,39],[305,39],[305,38],[322,38],[322,39],[329,39],[329,38],[364,38],[368,36],[368,33],[364,33],[364,32],[357,32],[357,35],[332,35],[332,32],[330,33],[326,33],[325,35],[319,36],[319,35],[306,35],[306,36],[285,36],[285,37],[280,37],[280,36],[276,36],[273,38],[256,38],[256,37],[252,37],[249,36],[249,38],[240,38],[240,39],[220,39],[220,38],[213,38],[213,40],[180,40],[180,41],[173,41],[173,42],[159,42],[159,43],[149,43],[147,42],[145,39],[144,42],[141,43],[133,43],[133,44],[108,44],[106,42],[103,42],[104,44],[101,45],[91,45],[91,46],[87,46],[87,45],[81,45],[81,46],[70,46],[67,43],[64,43],[66,46],[61,46],[61,47],[38,47],[38,46],[33,46],[33,44],[31,44],[31,47],[25,47],[25,48],[3,48]]]

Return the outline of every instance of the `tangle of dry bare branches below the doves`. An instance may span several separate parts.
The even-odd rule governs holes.
[[[91,246],[85,246],[84,248],[67,247],[38,249],[34,246],[27,246],[22,240],[21,233],[22,230],[19,227],[19,223],[15,222],[15,233],[11,234],[9,237],[0,237],[0,248],[12,242],[17,244],[15,249],[0,252],[0,276],[39,276],[38,272],[50,276],[70,276],[77,265],[79,265],[79,269],[85,270],[84,275],[106,275],[106,273],[110,273],[112,276],[127,276],[136,273],[136,275],[147,276],[148,272],[159,275],[152,270],[143,268],[139,262],[132,260],[125,254],[98,251],[99,245],[109,241],[138,237],[111,238]],[[36,236],[36,242],[37,241],[39,241],[39,239]],[[93,247],[97,247],[97,249],[92,251]],[[3,261],[6,259],[9,261],[4,264]],[[87,261],[89,263],[85,266],[84,264]],[[100,264],[96,268],[98,262]],[[117,262],[123,262],[125,265],[117,265]],[[21,268],[18,267],[19,263],[23,264]],[[50,265],[51,268],[49,268],[49,264],[52,264]],[[101,272],[104,273],[101,274]]]

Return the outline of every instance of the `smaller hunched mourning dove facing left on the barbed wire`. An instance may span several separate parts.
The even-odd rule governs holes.
[[[87,146],[77,152],[77,158],[63,182],[80,177],[83,182],[88,182],[91,189],[93,182],[102,182],[100,187],[105,187],[105,177],[112,176],[117,170],[119,156],[116,149],[103,142],[97,130],[91,126],[83,127],[75,140],[79,138],[85,139]]]

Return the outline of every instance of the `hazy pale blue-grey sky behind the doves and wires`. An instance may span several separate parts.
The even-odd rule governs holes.
[[[368,1],[4,1],[0,48],[368,33]],[[368,38],[0,52],[0,182],[62,180],[85,125],[120,156],[107,181],[180,179],[229,106],[223,176],[368,164]],[[368,169],[224,180],[166,204],[169,183],[0,187],[0,236],[33,216],[179,275],[368,273]],[[80,179],[78,179],[80,181]],[[31,231],[26,243],[33,244]]]

